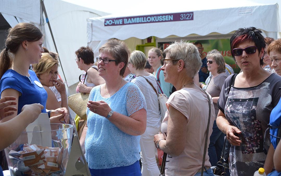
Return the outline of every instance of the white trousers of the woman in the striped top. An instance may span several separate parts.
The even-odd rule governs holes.
[[[158,176],[160,174],[157,166],[154,144],[154,135],[158,134],[159,128],[146,126],[145,132],[140,136],[140,159],[142,162],[142,176]]]

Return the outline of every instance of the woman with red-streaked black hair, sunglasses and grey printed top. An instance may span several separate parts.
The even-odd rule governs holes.
[[[239,28],[230,39],[232,56],[242,72],[226,78],[219,96],[217,126],[230,142],[230,175],[253,175],[273,169],[273,146],[264,135],[277,105],[281,77],[262,68],[266,46],[255,27]]]

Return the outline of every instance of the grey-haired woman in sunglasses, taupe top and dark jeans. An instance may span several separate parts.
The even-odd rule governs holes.
[[[225,59],[220,53],[213,53],[207,55],[207,66],[209,72],[212,73],[212,78],[210,82],[207,84],[206,92],[208,92],[213,99],[215,114],[219,112],[219,108],[217,107],[217,100],[219,99],[219,94],[221,93],[221,88],[225,79],[227,78],[227,74],[225,73]],[[223,149],[225,134],[217,128],[216,120],[213,125],[213,132],[210,136],[210,145],[209,145],[209,157],[210,163],[212,166],[217,165],[217,161],[220,159],[221,151]]]

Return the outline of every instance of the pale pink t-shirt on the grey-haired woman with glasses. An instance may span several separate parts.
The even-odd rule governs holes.
[[[211,100],[211,119],[209,137],[212,133],[215,120],[214,105]],[[183,88],[172,93],[166,103],[180,111],[186,118],[186,142],[183,152],[179,156],[167,155],[165,175],[195,175],[202,167],[204,154],[205,135],[209,118],[209,105],[207,95],[195,88]],[[161,131],[166,139],[169,110],[161,125]],[[209,146],[208,140],[207,146]],[[206,152],[205,166],[211,167],[208,150]]]

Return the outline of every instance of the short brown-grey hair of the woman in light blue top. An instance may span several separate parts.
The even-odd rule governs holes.
[[[115,65],[123,62],[124,67],[120,70],[120,75],[124,75],[130,56],[130,50],[126,43],[118,39],[111,39],[99,48],[99,53],[110,54],[114,59],[116,59]]]

